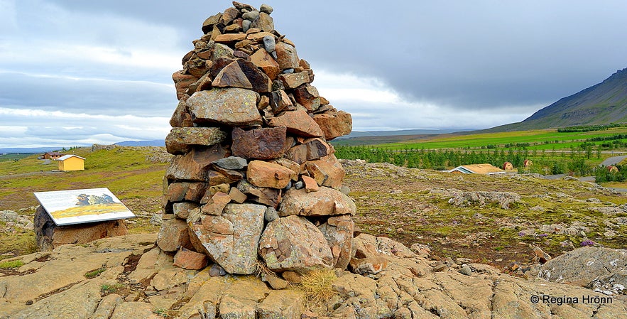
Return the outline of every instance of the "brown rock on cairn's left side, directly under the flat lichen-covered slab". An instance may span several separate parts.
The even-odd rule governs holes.
[[[212,161],[227,156],[222,146],[214,145],[209,148],[194,148],[190,153],[177,155],[173,158],[165,177],[170,180],[199,180],[206,181],[207,173]]]

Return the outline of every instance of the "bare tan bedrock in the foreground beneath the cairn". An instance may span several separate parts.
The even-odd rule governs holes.
[[[463,259],[440,265],[424,247],[413,252],[361,234],[356,246],[374,247],[385,269],[366,276],[333,271],[328,287],[312,296],[303,283],[275,290],[263,275],[175,267],[155,240],[156,234],[133,234],[4,261],[18,264],[0,272],[0,318],[624,318],[627,312],[623,295],[546,281],[577,271],[593,277],[599,267],[586,266],[592,257],[604,271],[614,269],[611,282],[620,286],[627,258],[612,249],[577,249],[565,267],[550,264],[544,278],[520,279]]]

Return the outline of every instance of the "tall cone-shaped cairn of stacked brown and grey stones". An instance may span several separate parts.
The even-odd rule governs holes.
[[[157,244],[175,265],[211,261],[219,274],[346,269],[356,207],[327,141],[349,134],[351,116],[310,84],[270,6],[233,4],[207,18],[173,74]]]

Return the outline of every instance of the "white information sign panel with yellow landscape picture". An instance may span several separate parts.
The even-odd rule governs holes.
[[[58,226],[135,217],[108,188],[56,190],[34,194]]]

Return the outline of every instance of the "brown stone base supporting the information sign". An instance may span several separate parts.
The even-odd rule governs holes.
[[[50,251],[63,244],[86,244],[96,239],[129,233],[124,220],[57,226],[41,206],[37,208],[33,224],[35,239],[42,251]]]

